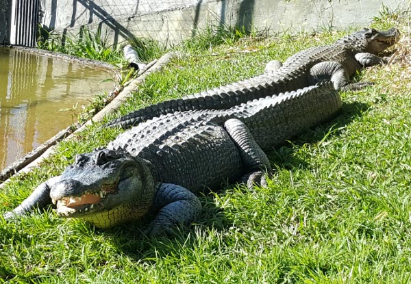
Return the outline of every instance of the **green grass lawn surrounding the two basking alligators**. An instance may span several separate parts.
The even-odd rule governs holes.
[[[408,283],[408,17],[390,13],[373,25],[403,31],[399,62],[364,70],[356,79],[375,86],[343,93],[338,116],[270,153],[268,188],[205,194],[195,224],[151,240],[134,224],[102,231],[51,209],[14,222],[0,218],[0,283]],[[191,45],[150,75],[121,113],[258,75],[268,60],[342,34],[238,38],[212,50]],[[41,168],[0,192],[0,211],[62,172],[75,153],[117,133],[94,125],[62,143]]]

